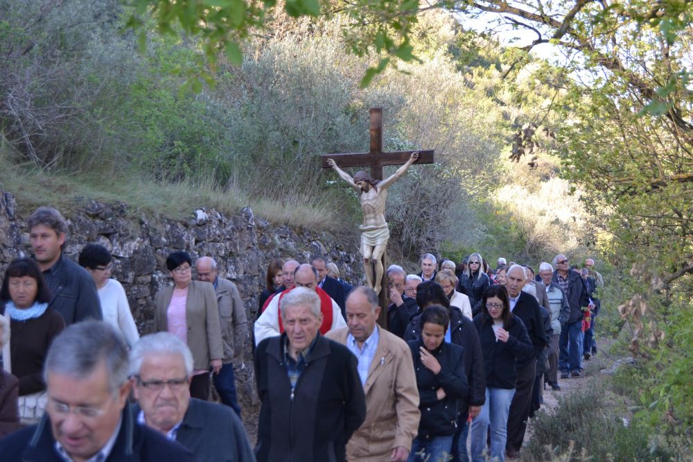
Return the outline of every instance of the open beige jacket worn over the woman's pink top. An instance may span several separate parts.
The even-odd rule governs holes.
[[[154,300],[154,330],[168,332],[166,311],[173,297],[173,286],[164,287]],[[185,319],[188,324],[188,348],[193,353],[193,368],[208,369],[209,361],[222,359],[224,347],[221,341],[219,309],[214,287],[209,282],[191,281],[185,303]]]

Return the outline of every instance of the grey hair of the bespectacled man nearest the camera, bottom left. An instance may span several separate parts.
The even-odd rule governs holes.
[[[103,321],[87,320],[70,325],[53,339],[44,364],[49,373],[84,378],[105,361],[111,393],[128,382],[128,345],[120,332]]]

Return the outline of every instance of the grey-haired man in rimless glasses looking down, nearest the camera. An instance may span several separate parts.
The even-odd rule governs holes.
[[[199,460],[137,425],[128,405],[128,346],[111,325],[85,321],[67,327],[46,356],[44,379],[46,416],[0,440],[3,462]]]

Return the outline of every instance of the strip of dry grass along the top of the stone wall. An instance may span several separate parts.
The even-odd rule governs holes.
[[[249,197],[234,184],[220,188],[211,179],[177,183],[154,182],[136,175],[103,172],[51,173],[32,164],[15,163],[16,153],[0,139],[0,186],[14,194],[20,209],[52,205],[63,212],[75,212],[85,199],[104,203],[123,202],[130,216],[148,214],[169,219],[189,218],[195,209],[216,209],[234,214],[242,207],[274,224],[338,230],[343,217],[335,213],[328,199],[288,196],[286,200]]]

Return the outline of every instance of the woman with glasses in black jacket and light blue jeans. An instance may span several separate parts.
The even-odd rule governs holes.
[[[486,367],[486,402],[471,427],[471,456],[486,461],[486,436],[491,426],[491,460],[505,460],[505,442],[510,402],[515,394],[515,363],[534,354],[532,341],[520,318],[510,311],[505,286],[490,286],[484,291],[482,312],[474,318],[479,332]]]

